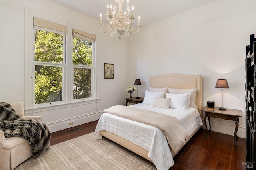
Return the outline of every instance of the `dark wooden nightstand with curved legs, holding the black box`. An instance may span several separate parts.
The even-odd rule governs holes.
[[[225,119],[225,120],[233,120],[234,123],[236,124],[236,128],[235,128],[235,133],[234,133],[234,144],[235,146],[237,146],[236,144],[236,138],[238,138],[238,136],[236,135],[236,132],[238,130],[238,126],[239,126],[239,117],[242,117],[242,111],[241,110],[236,110],[236,109],[227,109],[227,110],[219,110],[218,107],[204,107],[201,109],[201,111],[203,111],[205,113],[204,115],[204,126],[206,128],[206,135],[204,136],[205,138],[208,135],[208,130],[207,130],[207,125],[206,125],[206,117],[208,117],[208,121],[209,121],[209,126],[211,130],[211,121],[210,121],[210,117],[214,117],[214,118],[221,118],[221,119]]]

